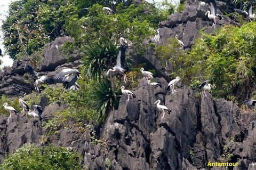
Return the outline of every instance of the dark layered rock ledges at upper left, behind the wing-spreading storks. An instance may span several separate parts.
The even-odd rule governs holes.
[[[76,69],[81,64],[78,60],[82,56],[77,54],[77,52],[74,52],[72,55],[60,53],[61,46],[68,40],[72,41],[70,37],[59,37],[46,45],[39,66],[34,68],[38,76],[53,76],[63,68]],[[70,62],[67,63],[68,60]],[[25,70],[27,64],[33,66],[28,58],[16,60],[13,62],[12,67],[6,67],[0,72],[0,94],[23,96],[25,93],[29,94],[34,91],[34,83],[37,78]]]

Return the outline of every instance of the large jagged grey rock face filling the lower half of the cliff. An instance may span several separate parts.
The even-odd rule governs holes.
[[[106,169],[107,158],[113,169],[207,169],[209,161],[237,162],[236,169],[253,167],[256,158],[253,113],[241,114],[235,104],[213,100],[207,92],[207,98],[203,94],[196,98],[198,92],[187,86],[179,87],[176,93],[166,92],[166,80],[157,80],[163,87],[155,93],[155,87],[141,79],[132,90],[137,98],[127,102],[127,96],[122,96],[118,110],[110,112],[100,129],[101,140],[96,145],[90,137],[92,129],[79,132],[76,128],[60,127],[45,139],[47,129],[38,120],[21,113],[13,115],[6,125],[7,118],[2,115],[0,159],[24,143],[46,140],[81,153],[89,169]],[[157,99],[172,110],[171,114],[163,117],[154,104]],[[44,121],[64,107],[57,103],[48,106],[45,100],[41,105]],[[230,141],[232,137],[234,141]]]

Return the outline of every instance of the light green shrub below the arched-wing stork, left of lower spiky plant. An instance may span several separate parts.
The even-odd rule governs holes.
[[[49,87],[45,85],[43,94],[49,98],[49,102],[68,103],[68,108],[55,113],[60,122],[67,122],[70,119],[75,122],[95,120],[96,111],[90,99],[90,80],[79,79],[79,91],[65,90],[63,87]]]

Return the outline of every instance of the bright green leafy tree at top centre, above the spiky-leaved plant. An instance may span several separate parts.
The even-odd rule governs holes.
[[[160,21],[157,10],[153,10],[155,7],[148,3],[138,6],[132,4],[128,7],[120,3],[116,6],[117,13],[114,15],[106,15],[102,7],[94,4],[89,7],[86,16],[81,19],[73,16],[70,22],[66,22],[65,27],[69,28],[70,35],[76,40],[75,47],[83,51],[87,45],[117,43],[120,37],[124,37],[132,41],[133,49],[142,55],[146,50],[143,41],[155,35],[150,27],[157,27]],[[146,14],[145,10],[154,11],[155,14]]]

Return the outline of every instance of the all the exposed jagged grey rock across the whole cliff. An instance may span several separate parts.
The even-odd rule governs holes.
[[[199,29],[214,31],[212,22],[204,13],[208,5],[199,6],[199,2],[188,1],[185,11],[170,16],[169,21],[160,23],[161,45],[166,38],[179,35],[186,47],[191,47],[199,37]],[[227,2],[230,7],[230,2]],[[217,2],[223,10],[224,2]],[[231,9],[228,8],[230,11]],[[176,20],[176,22],[175,22]],[[219,21],[220,26],[231,22],[228,18]],[[209,27],[210,26],[210,27]],[[219,27],[216,26],[216,28]],[[195,28],[195,29],[191,29]],[[183,33],[185,33],[183,35]],[[182,36],[181,36],[182,35]],[[74,54],[73,62],[66,63],[68,55],[62,56],[58,49],[67,37],[56,39],[43,51],[43,60],[36,71],[39,75],[53,76],[60,69],[78,68],[81,56]],[[58,45],[58,48],[57,46]],[[166,91],[169,75],[154,57],[154,51],[148,50],[138,63],[147,62],[148,67],[157,71],[157,82],[162,87],[149,85],[141,79],[132,90],[137,98],[127,102],[123,95],[119,108],[112,110],[99,129],[93,129],[90,122],[84,123],[84,130],[78,127],[61,125],[51,135],[51,129],[42,127],[37,119],[28,118],[25,113],[12,115],[9,125],[7,117],[0,116],[0,162],[6,153],[22,147],[25,143],[45,144],[47,142],[69,147],[83,156],[83,165],[89,169],[226,169],[209,167],[211,163],[238,163],[233,169],[254,169],[255,150],[255,113],[244,112],[232,102],[207,97],[188,86],[180,86],[176,93]],[[15,61],[13,67],[7,67],[0,73],[0,94],[17,96],[34,90],[35,77],[25,74],[28,59]],[[162,78],[159,78],[162,77]],[[26,83],[26,81],[30,83]],[[175,87],[177,88],[177,87]],[[43,107],[43,121],[54,118],[53,113],[65,109],[66,104],[49,103],[40,96],[39,105]],[[171,111],[165,114],[158,110],[154,102],[161,100]],[[163,117],[163,118],[162,118]],[[70,125],[74,122],[70,121]],[[93,140],[92,131],[97,132],[98,141]],[[110,169],[110,168],[109,168]]]

